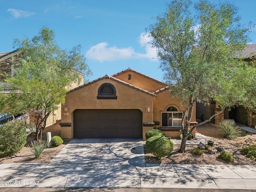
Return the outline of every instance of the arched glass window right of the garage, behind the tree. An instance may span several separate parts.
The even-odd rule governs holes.
[[[178,112],[174,106],[170,106],[166,112],[162,113],[162,126],[163,127],[181,127],[183,113]]]

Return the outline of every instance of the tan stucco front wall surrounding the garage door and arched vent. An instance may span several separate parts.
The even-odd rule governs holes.
[[[116,88],[115,100],[97,99],[98,88],[103,83],[110,83]],[[153,122],[154,96],[135,90],[110,79],[102,79],[84,86],[66,95],[66,103],[62,106],[62,123],[71,123],[71,127],[62,127],[62,138],[73,138],[73,112],[76,109],[139,109],[143,113],[143,122]],[[68,112],[64,113],[64,107]],[[146,111],[150,108],[150,112]],[[143,138],[150,127],[143,127]]]

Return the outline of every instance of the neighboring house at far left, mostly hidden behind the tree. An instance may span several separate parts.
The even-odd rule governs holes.
[[[12,57],[18,57],[19,56],[19,52],[17,50],[14,50],[12,52],[3,52],[0,53],[0,73],[4,74],[10,74],[10,75],[14,75],[14,68],[13,68],[13,64],[11,62]],[[81,82],[84,82],[84,74],[78,72],[81,76]],[[4,86],[4,76],[0,76],[0,84],[3,87]],[[72,89],[74,87],[77,87],[78,84],[77,83],[72,83],[68,89]],[[8,93],[8,86],[6,86],[6,91],[5,93]],[[35,116],[36,114],[38,114],[38,111],[34,111],[34,112],[29,112],[30,114],[32,114],[33,116]],[[32,116],[30,116],[31,120],[33,120]],[[47,118],[46,120],[46,127],[50,126],[52,124],[56,124],[56,122],[58,120],[61,120],[61,104],[59,105],[58,110],[54,110],[52,112],[52,114],[50,114],[50,116]]]

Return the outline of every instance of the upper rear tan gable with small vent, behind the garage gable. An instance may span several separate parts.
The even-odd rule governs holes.
[[[143,90],[148,90],[149,92],[154,92],[165,86],[163,82],[132,70],[131,68],[118,72],[114,74],[113,77]]]

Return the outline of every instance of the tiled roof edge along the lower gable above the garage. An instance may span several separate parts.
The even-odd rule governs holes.
[[[103,79],[110,79],[110,80],[112,80],[112,81],[118,82],[118,83],[120,83],[120,84],[123,84],[123,85],[125,85],[125,86],[130,87],[130,88],[133,88],[133,89],[138,90],[138,91],[140,91],[140,92],[149,94],[149,95],[151,95],[151,96],[156,96],[156,94],[154,94],[154,93],[152,93],[152,92],[149,92],[149,91],[144,90],[144,89],[142,89],[142,88],[136,87],[136,86],[134,86],[134,85],[132,85],[132,84],[129,84],[129,83],[127,83],[127,82],[124,82],[124,81],[122,81],[122,80],[120,80],[120,79],[114,78],[113,76],[110,76],[110,75],[108,75],[108,74],[106,74],[105,76],[100,77],[100,78],[98,78],[98,79],[92,80],[92,81],[90,81],[90,82],[88,82],[88,83],[85,83],[85,84],[83,84],[83,85],[81,85],[81,86],[78,86],[78,87],[76,87],[76,88],[70,90],[68,93],[73,92],[73,91],[75,91],[75,90],[78,90],[78,89],[80,89],[80,88],[83,88],[83,87],[85,87],[85,86],[88,86],[88,85],[90,85],[90,84],[93,84],[93,83],[98,82],[98,81],[103,80]]]

